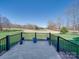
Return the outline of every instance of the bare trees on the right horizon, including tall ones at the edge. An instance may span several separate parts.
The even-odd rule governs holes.
[[[73,32],[79,32],[79,0],[72,0],[70,5],[65,9],[64,14],[66,19],[61,20],[61,16],[58,18],[56,23],[50,21],[48,22],[48,28],[60,30],[60,28],[64,26],[63,23],[65,22],[64,27],[66,27],[68,30],[71,30]]]

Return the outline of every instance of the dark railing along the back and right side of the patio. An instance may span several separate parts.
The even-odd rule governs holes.
[[[79,59],[79,45],[60,36],[56,36],[51,33],[23,33],[23,37],[26,40],[32,40],[32,38],[35,37],[41,41],[45,41],[45,39],[49,37],[49,44],[51,45],[52,43],[58,52],[64,53],[66,55],[66,59]]]

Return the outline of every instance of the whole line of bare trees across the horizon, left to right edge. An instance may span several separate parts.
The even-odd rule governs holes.
[[[66,24],[65,27],[68,30],[72,30],[73,32],[79,32],[79,0],[73,0],[69,7],[66,8],[66,12],[64,13],[66,16]],[[53,20],[48,21],[48,25],[46,28],[39,27],[34,24],[26,24],[26,25],[18,25],[12,24],[7,17],[0,16],[0,31],[4,28],[23,28],[23,29],[50,29],[50,30],[60,30],[64,26],[64,19],[61,20],[62,17],[57,17],[57,20],[54,22]]]

